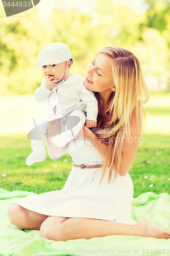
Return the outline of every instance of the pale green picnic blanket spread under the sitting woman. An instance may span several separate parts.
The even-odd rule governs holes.
[[[22,230],[7,217],[9,205],[31,192],[6,191],[0,188],[0,256],[48,255],[170,255],[170,239],[135,236],[52,241],[40,238],[37,230]],[[170,196],[147,192],[132,201],[133,219],[150,219],[154,224],[170,228]]]

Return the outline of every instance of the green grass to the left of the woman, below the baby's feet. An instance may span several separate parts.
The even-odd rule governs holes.
[[[26,158],[32,150],[30,140],[26,136],[1,137],[0,142],[0,186],[2,188],[9,191],[27,190],[40,194],[63,187],[71,170],[70,157],[68,159],[67,155],[64,155],[59,160],[53,161],[47,156],[45,161],[27,166]],[[3,174],[6,176],[3,177]]]

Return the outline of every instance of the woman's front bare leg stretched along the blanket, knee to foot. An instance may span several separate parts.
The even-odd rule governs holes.
[[[59,218],[59,219],[58,219]],[[55,240],[90,239],[111,235],[170,238],[170,230],[154,225],[147,219],[140,220],[135,225],[86,219],[48,217],[40,228],[40,236]]]

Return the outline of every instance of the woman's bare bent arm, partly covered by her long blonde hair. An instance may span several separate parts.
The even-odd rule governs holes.
[[[92,144],[94,144],[94,147],[96,148],[96,150],[105,159],[106,155],[102,154],[102,150],[103,152],[107,152],[108,145],[102,142],[85,125],[83,126],[83,132],[84,132],[84,137],[87,138]],[[126,135],[123,148],[122,148],[122,157],[120,160],[120,167],[118,171],[118,174],[120,176],[125,176],[129,172],[137,153],[137,148],[138,148],[139,139],[141,135],[141,124],[140,126],[137,126],[136,109],[134,109],[132,112],[132,118],[130,121],[130,133],[131,133],[130,139],[128,139]]]

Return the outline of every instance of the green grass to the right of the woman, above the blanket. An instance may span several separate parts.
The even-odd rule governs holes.
[[[170,191],[170,136],[143,135],[129,174],[134,183],[134,197],[151,191],[155,194]],[[148,179],[145,179],[147,176]],[[152,180],[151,176],[154,176]],[[153,187],[149,187],[153,185]]]

